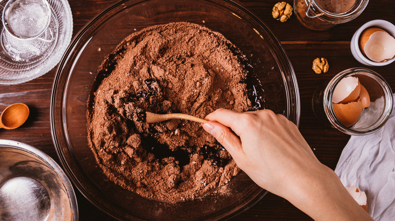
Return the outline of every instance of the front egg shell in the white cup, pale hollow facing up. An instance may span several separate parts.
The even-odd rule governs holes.
[[[364,45],[366,57],[374,62],[385,62],[395,56],[395,38],[385,31],[377,31],[370,35]]]

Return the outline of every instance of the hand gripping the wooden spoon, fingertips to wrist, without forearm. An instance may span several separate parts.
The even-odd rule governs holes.
[[[283,115],[218,109],[206,119],[214,122],[203,128],[217,138],[240,169],[274,194],[285,197],[285,191],[294,191],[289,183],[298,183],[313,168],[322,167],[296,125]]]

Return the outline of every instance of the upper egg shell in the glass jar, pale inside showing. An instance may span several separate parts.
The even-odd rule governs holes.
[[[336,85],[332,95],[332,102],[348,103],[357,100],[360,92],[361,83],[358,77],[345,77]]]

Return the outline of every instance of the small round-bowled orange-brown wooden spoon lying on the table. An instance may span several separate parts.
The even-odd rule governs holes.
[[[14,103],[4,109],[0,116],[0,128],[15,129],[29,117],[29,107],[24,103]]]

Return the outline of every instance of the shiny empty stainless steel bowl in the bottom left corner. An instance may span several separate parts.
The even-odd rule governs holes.
[[[78,220],[70,181],[43,151],[0,139],[0,220]]]

